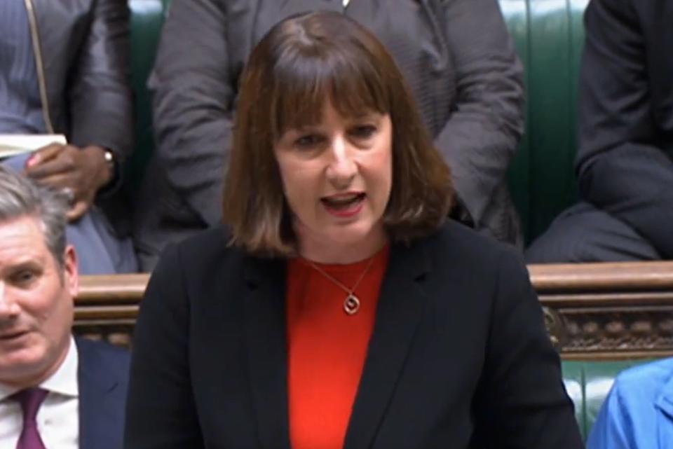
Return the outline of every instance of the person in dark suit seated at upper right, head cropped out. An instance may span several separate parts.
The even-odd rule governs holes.
[[[576,168],[583,202],[530,263],[673,258],[673,2],[592,0]]]

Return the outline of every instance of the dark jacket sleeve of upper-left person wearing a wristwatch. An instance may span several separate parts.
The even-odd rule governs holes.
[[[133,113],[129,71],[129,11],[125,1],[93,1],[91,22],[73,64],[70,141],[99,145],[127,158]]]

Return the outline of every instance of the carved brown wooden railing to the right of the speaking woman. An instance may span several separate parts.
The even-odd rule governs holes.
[[[673,355],[673,262],[531,265],[566,359]]]

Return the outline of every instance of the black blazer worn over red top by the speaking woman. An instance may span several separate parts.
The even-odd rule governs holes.
[[[290,448],[285,263],[226,241],[169,247],[151,277],[126,449]],[[376,313],[344,448],[583,448],[511,249],[455,223],[394,244]]]

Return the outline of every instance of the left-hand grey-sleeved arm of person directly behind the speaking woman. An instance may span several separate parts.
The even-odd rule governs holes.
[[[210,226],[222,216],[236,85],[225,36],[224,2],[174,0],[150,79],[156,157],[186,206]]]

